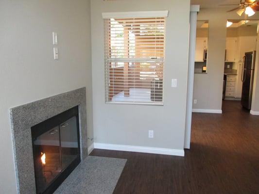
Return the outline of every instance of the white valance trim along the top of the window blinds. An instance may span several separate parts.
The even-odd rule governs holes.
[[[127,18],[127,17],[168,17],[168,10],[140,11],[140,12],[104,12],[104,19]]]

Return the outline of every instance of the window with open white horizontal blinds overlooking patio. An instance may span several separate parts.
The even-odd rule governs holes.
[[[105,101],[163,102],[165,17],[104,19]]]

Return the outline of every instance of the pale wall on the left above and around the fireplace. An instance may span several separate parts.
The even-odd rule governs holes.
[[[15,194],[9,108],[86,86],[93,135],[90,1],[1,0],[0,24],[0,193]],[[52,31],[58,32],[58,61]]]

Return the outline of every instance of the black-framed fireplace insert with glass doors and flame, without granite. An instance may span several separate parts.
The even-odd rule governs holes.
[[[37,194],[52,194],[80,163],[78,106],[31,128]]]

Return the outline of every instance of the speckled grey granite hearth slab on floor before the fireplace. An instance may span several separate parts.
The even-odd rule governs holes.
[[[126,161],[88,156],[54,194],[112,194]]]

